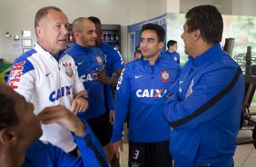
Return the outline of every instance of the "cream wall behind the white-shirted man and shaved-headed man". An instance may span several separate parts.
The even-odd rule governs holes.
[[[31,30],[33,42],[34,15],[47,5],[61,8],[68,16],[69,22],[79,16],[97,16],[103,24],[122,25],[122,51],[124,60],[127,57],[127,27],[143,20],[166,13],[166,0],[0,0],[0,58],[13,62],[22,51],[12,51],[14,35],[20,38],[21,31]],[[5,37],[9,31],[12,37]]]

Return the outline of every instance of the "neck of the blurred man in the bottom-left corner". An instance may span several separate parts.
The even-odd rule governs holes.
[[[21,167],[25,163],[25,152],[0,151],[0,164],[5,167]]]

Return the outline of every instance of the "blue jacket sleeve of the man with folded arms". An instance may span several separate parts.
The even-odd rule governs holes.
[[[171,123],[171,125],[172,123],[179,122],[179,125],[173,128],[195,128],[200,123],[209,121],[225,111],[223,107],[227,106],[227,102],[230,101],[231,93],[226,94],[225,100],[218,101],[209,109],[202,112],[197,111],[217,93],[226,88],[231,81],[233,69],[222,69],[203,74],[199,83],[194,83],[196,85],[187,98],[181,100],[178,93],[174,93],[167,99],[163,109],[167,122]],[[219,78],[218,81],[216,80],[216,74]]]

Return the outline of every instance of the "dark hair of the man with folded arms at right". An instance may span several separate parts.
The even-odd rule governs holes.
[[[193,7],[186,14],[188,33],[199,29],[202,39],[208,44],[222,41],[223,20],[218,9],[213,5],[199,5]]]

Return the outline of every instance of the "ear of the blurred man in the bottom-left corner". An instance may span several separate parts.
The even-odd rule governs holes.
[[[0,142],[6,146],[15,145],[17,142],[17,133],[8,129],[0,130]]]

